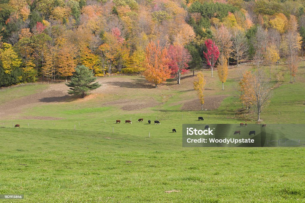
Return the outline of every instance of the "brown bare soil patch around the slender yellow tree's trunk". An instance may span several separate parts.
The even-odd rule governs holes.
[[[203,109],[213,110],[217,109],[224,98],[229,95],[215,95],[215,96],[207,96],[204,99]],[[193,99],[185,102],[181,107],[181,110],[199,110],[201,109],[201,104],[199,99]]]

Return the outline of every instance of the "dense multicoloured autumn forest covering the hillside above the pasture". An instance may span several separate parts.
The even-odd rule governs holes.
[[[142,74],[157,85],[186,71],[286,64],[305,41],[305,2],[242,0],[1,0],[0,86]],[[246,76],[245,76],[246,77]]]

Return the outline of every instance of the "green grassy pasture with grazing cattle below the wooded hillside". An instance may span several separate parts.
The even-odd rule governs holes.
[[[105,77],[91,97],[27,104],[0,118],[0,194],[24,194],[24,202],[304,202],[304,148],[182,147],[183,123],[256,123],[254,112],[240,111],[237,97],[246,68],[230,69],[225,91],[205,71],[206,97],[226,95],[213,110],[181,110],[197,98],[190,76],[158,89],[139,76]],[[284,69],[274,69],[272,78],[283,73],[288,81]],[[297,82],[271,80],[264,123],[305,123],[304,76],[301,63]],[[57,88],[6,88],[0,102],[9,106],[50,87]],[[155,119],[161,125],[147,123]],[[17,123],[21,128],[13,128]],[[165,193],[170,190],[178,192]]]

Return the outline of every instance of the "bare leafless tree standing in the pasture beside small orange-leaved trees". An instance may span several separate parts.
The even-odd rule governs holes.
[[[263,69],[259,68],[256,73],[253,75],[253,93],[254,101],[253,107],[257,112],[257,121],[260,120],[260,113],[263,108],[268,104],[271,94],[270,94],[270,85],[268,80],[265,79],[263,74]]]

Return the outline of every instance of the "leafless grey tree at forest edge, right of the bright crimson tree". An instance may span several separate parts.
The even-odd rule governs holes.
[[[239,62],[242,62],[246,59],[248,53],[248,41],[244,33],[238,31],[234,34],[233,38],[233,54],[232,57],[237,61],[237,67],[239,66]]]

